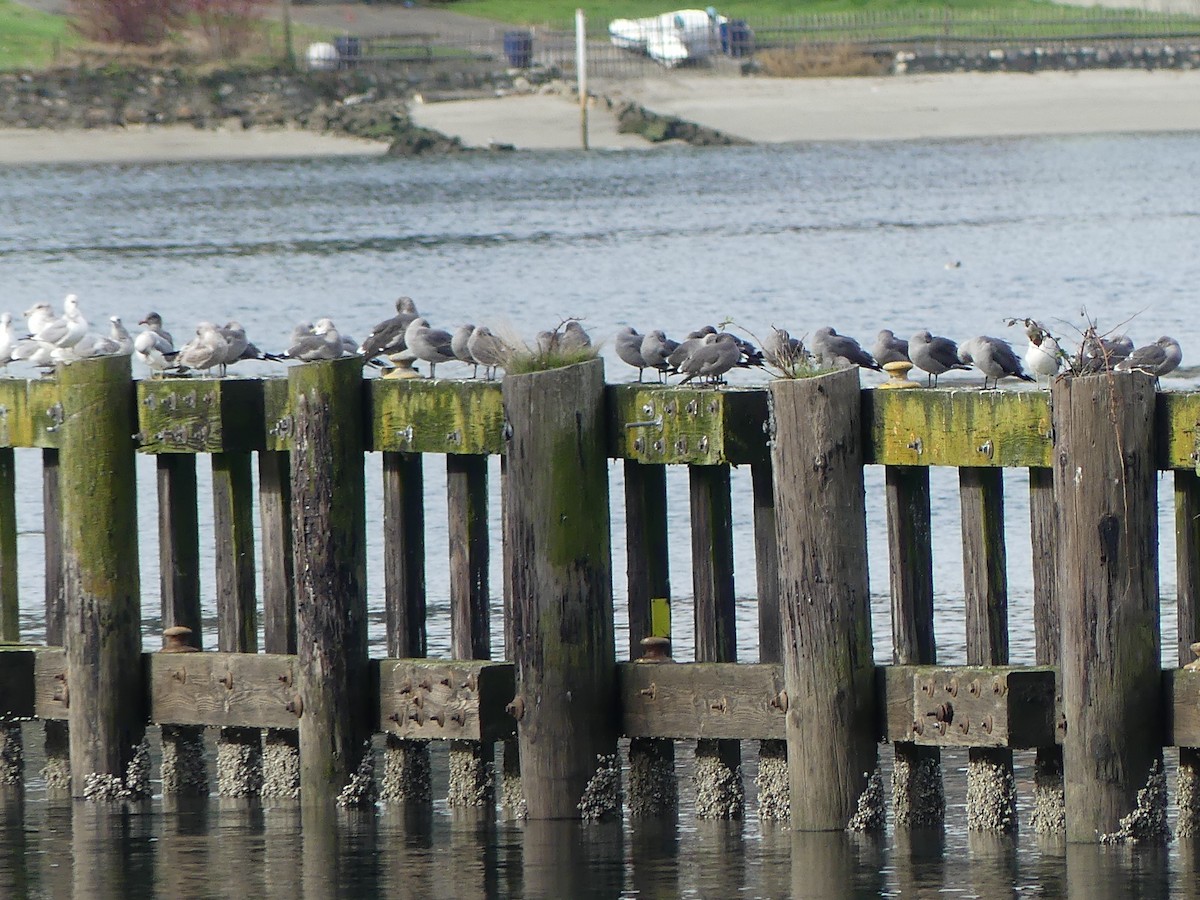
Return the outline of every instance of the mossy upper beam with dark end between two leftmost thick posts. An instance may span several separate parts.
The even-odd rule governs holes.
[[[263,385],[251,378],[170,378],[138,382],[138,436],[146,454],[260,450]]]

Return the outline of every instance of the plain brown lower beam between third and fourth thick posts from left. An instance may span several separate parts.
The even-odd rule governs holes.
[[[617,678],[626,737],[785,738],[780,665],[623,662]]]

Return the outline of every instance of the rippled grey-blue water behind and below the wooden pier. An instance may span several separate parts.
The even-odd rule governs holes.
[[[1084,324],[1080,312],[1086,308],[1102,326],[1121,325],[1140,343],[1164,332],[1175,335],[1187,365],[1200,361],[1196,246],[1198,136],[0,169],[2,308],[19,313],[34,301],[59,301],[74,292],[94,323],[102,324],[109,313],[133,323],[155,308],[180,337],[200,318],[238,318],[266,348],[281,347],[295,322],[322,314],[331,314],[342,330],[361,337],[390,314],[397,295],[409,294],[434,325],[470,320],[524,336],[575,316],[596,337],[611,336],[622,324],[679,335],[707,322],[731,320],[760,335],[770,325],[799,335],[832,324],[864,343],[882,326],[901,335],[928,326],[959,340],[994,334],[1019,342],[1016,330],[1006,329],[1006,317],[1033,316],[1069,337]],[[1132,320],[1122,325],[1127,319]],[[610,380],[631,377],[607,348],[605,355]],[[16,365],[12,370],[25,374]],[[247,374],[268,371],[247,367]],[[756,378],[761,380],[757,376],[744,380]],[[864,376],[864,383],[874,380]],[[964,376],[958,382],[978,384],[978,378]],[[1184,371],[1164,386],[1194,384],[1195,372]],[[19,575],[23,625],[30,640],[43,629],[38,462],[35,451],[18,452],[24,488],[18,510]],[[378,460],[368,463],[373,496],[378,496]],[[444,476],[437,460],[427,462],[426,473],[430,646],[431,653],[445,654]],[[152,461],[142,460],[144,521],[152,521]],[[619,466],[612,467],[612,497],[620,498]],[[497,481],[493,516],[499,510]],[[1006,474],[1014,662],[1033,659],[1025,484],[1025,473]],[[882,473],[870,469],[866,485],[876,656],[887,661]],[[739,654],[752,660],[757,635],[749,472],[734,472],[733,487]],[[203,480],[200,490],[205,496]],[[691,580],[683,469],[671,472],[668,491],[677,656],[686,659]],[[935,470],[932,491],[938,652],[942,661],[953,664],[965,656],[955,473]],[[1160,534],[1169,538],[1168,476],[1162,479],[1162,500]],[[623,530],[616,509],[618,625],[624,622]],[[210,538],[210,532],[202,536],[209,546],[208,596]],[[158,577],[152,529],[140,541],[144,612],[150,620],[157,614]],[[370,541],[372,652],[382,655],[382,529],[371,528]],[[494,546],[493,592],[500,583],[499,559]],[[1170,648],[1175,574],[1169,539],[1160,583],[1164,644]],[[499,623],[499,611],[493,620]],[[157,638],[151,634],[146,643],[156,646]],[[208,643],[212,646],[212,640]],[[1174,661],[1169,654],[1168,659]],[[7,848],[0,850],[0,868],[5,858],[5,871],[11,871],[23,852],[41,859],[38,854],[54,854],[71,844],[78,875],[90,854],[102,853],[103,841],[95,830],[101,826],[92,822],[80,832],[78,816],[84,814],[37,799],[36,784],[31,791],[24,814],[32,824],[22,830],[11,824],[10,815],[10,827],[0,836],[0,848]],[[172,895],[164,872],[187,870],[194,859],[223,864],[216,848],[240,835],[253,865],[269,868],[278,856],[284,871],[305,874],[307,886],[310,871],[316,872],[313,878],[325,877],[307,862],[310,840],[322,839],[311,836],[307,822],[300,827],[298,816],[294,810],[247,811],[217,800],[192,811],[155,806],[152,814],[133,815],[120,824],[118,868],[150,872],[144,883]],[[409,872],[422,865],[434,875],[420,889],[404,890],[414,896],[451,895],[458,882],[439,886],[440,872],[464,866],[468,858],[484,860],[481,868],[470,869],[479,872],[479,887],[464,887],[468,894],[539,893],[529,882],[544,869],[535,860],[544,840],[539,834],[546,829],[479,830],[445,810],[427,827],[408,827],[388,812],[370,821],[334,818],[338,836],[329,852],[338,877],[359,872],[360,865],[374,872],[361,880],[355,875],[358,887],[346,895],[370,896],[386,886],[409,884]],[[577,850],[583,854],[578,859],[596,872],[587,884],[576,886],[578,895],[804,893],[808,882],[797,875],[797,866],[803,863],[808,869],[814,854],[834,869],[845,863],[846,871],[854,872],[847,890],[864,895],[899,892],[905,884],[916,884],[905,893],[918,894],[953,892],[955,886],[965,895],[1014,889],[1049,894],[1057,893],[1055,886],[1066,883],[1068,875],[1061,848],[1025,847],[1032,836],[1022,839],[1020,853],[983,847],[985,841],[959,834],[961,821],[948,830],[944,852],[901,846],[892,838],[880,845],[839,838],[828,846],[810,846],[756,823],[730,832],[686,817],[678,833],[671,829],[658,844],[642,841],[641,826],[616,832],[554,828],[565,829],[550,830],[563,835],[554,846]],[[390,853],[396,846],[412,853],[404,857],[410,862],[392,866],[377,859],[377,850]],[[646,863],[642,854],[652,850],[660,854]],[[1080,864],[1078,871],[1114,865],[1122,884],[1134,878],[1139,890],[1156,893],[1159,876],[1163,884],[1178,886],[1178,872],[1189,870],[1186,857],[1181,851],[1160,860],[1123,852]],[[905,860],[913,858],[924,860],[920,871],[928,883],[926,875],[908,872]],[[374,862],[367,865],[365,859]],[[964,870],[971,877],[991,871],[998,881],[994,889],[972,888]],[[197,877],[200,881],[188,884],[203,883],[203,876]],[[258,877],[247,883],[259,883]],[[326,882],[322,890],[332,892],[334,882]],[[56,888],[42,890],[32,893],[67,895]],[[313,890],[313,896],[323,895]],[[556,892],[552,883],[541,895]],[[260,893],[274,895],[270,889]],[[84,895],[89,894],[76,888],[76,896]]]

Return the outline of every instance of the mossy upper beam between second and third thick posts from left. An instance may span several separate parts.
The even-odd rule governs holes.
[[[418,454],[499,454],[500,385],[479,380],[372,378],[370,449]]]

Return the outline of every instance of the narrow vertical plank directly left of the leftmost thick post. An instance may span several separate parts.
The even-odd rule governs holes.
[[[42,528],[46,564],[46,643],[62,646],[66,592],[62,587],[62,493],[59,487],[59,451],[42,450]],[[46,788],[52,797],[71,791],[71,740],[67,722],[47,721]]]

